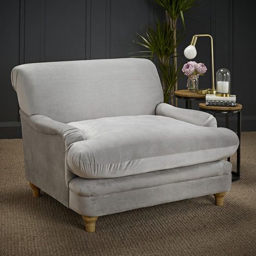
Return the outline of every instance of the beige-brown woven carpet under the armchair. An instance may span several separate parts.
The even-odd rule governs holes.
[[[225,206],[206,196],[122,212],[92,234],[50,196],[32,197],[22,140],[0,140],[0,178],[0,255],[256,255],[256,132],[242,134],[242,179]]]

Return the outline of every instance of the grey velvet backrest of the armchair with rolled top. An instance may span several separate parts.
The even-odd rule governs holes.
[[[121,58],[42,62],[12,70],[20,109],[60,122],[108,116],[154,115],[163,101],[155,65]]]

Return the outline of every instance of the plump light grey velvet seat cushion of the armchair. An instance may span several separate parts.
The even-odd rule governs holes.
[[[118,116],[71,122],[84,140],[70,145],[67,164],[82,178],[115,178],[217,161],[233,155],[237,135],[155,116]]]

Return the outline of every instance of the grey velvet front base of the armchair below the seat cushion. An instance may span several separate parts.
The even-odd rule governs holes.
[[[70,182],[70,208],[102,216],[222,193],[230,189],[230,171],[230,163],[223,161],[115,179],[76,178]]]

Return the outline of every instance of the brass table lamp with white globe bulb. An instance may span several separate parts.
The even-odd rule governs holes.
[[[212,88],[211,89],[201,89],[198,90],[197,93],[200,94],[216,94],[215,90],[215,74],[214,74],[214,40],[211,35],[203,34],[203,35],[194,35],[192,37],[190,45],[184,50],[184,55],[187,59],[194,59],[197,56],[196,42],[198,37],[210,37],[210,47],[211,47],[211,78],[212,78]]]

